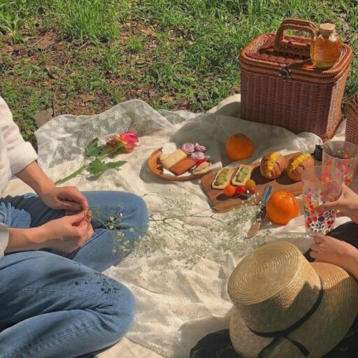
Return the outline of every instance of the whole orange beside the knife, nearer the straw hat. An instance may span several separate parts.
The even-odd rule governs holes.
[[[275,224],[285,225],[299,214],[299,201],[289,192],[275,192],[266,203],[266,213]]]

